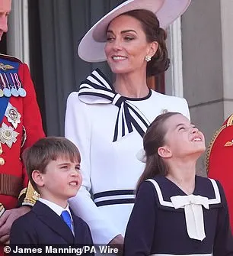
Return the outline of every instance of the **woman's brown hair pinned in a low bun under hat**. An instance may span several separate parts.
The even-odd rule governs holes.
[[[168,50],[165,43],[167,33],[159,27],[156,15],[152,11],[144,9],[127,11],[123,15],[129,15],[141,22],[148,43],[158,42],[158,50],[147,64],[146,75],[155,76],[168,70],[170,60],[168,59]]]

